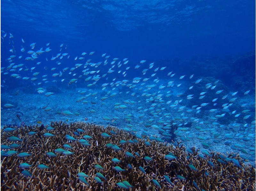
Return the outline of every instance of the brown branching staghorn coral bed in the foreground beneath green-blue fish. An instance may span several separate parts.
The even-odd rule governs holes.
[[[246,166],[243,163],[241,168],[233,163],[221,164],[217,162],[219,154],[211,153],[212,157],[206,159],[197,157],[197,152],[193,148],[194,154],[188,154],[183,145],[178,143],[177,147],[172,144],[159,143],[150,141],[151,146],[145,144],[146,140],[139,140],[138,143],[119,144],[120,140],[134,140],[135,136],[128,134],[115,127],[97,126],[94,124],[77,122],[62,123],[52,122],[51,131],[56,136],[46,138],[44,128],[40,131],[40,126],[24,126],[18,128],[12,133],[6,133],[1,130],[1,144],[10,145],[7,141],[10,136],[19,136],[23,141],[21,147],[14,149],[20,152],[32,153],[26,158],[19,158],[17,155],[10,157],[1,156],[1,190],[120,190],[117,187],[118,182],[127,180],[133,187],[130,190],[197,190],[193,181],[196,182],[200,189],[204,190],[255,190],[255,168]],[[76,129],[83,129],[84,133],[79,136],[74,135]],[[110,138],[103,138],[102,133],[111,134],[110,130],[115,131]],[[33,136],[28,136],[29,131],[37,131]],[[71,135],[77,139],[82,139],[83,135],[92,136],[90,139],[91,146],[83,146],[78,141],[68,143],[65,135]],[[149,141],[149,140],[148,140]],[[118,145],[122,150],[114,151],[106,147],[107,143]],[[72,146],[73,155],[64,156],[57,154],[57,157],[48,157],[47,152],[54,152],[57,148],[63,148],[64,144]],[[135,152],[140,154],[127,157],[125,152],[131,152],[135,156]],[[174,160],[166,160],[165,155],[172,152],[177,158]],[[153,158],[151,161],[145,161],[144,157]],[[189,156],[189,158],[188,158]],[[233,154],[228,154],[228,157]],[[118,158],[120,163],[114,164],[111,159]],[[235,156],[237,160],[240,158]],[[207,162],[210,160],[214,166],[210,166]],[[28,171],[33,177],[24,177],[20,163],[32,164]],[[127,164],[132,165],[132,169]],[[38,164],[46,164],[50,169],[41,170],[36,166]],[[101,165],[104,170],[97,170],[94,165]],[[193,164],[196,171],[189,168],[188,164]],[[116,172],[115,166],[125,169],[124,172]],[[146,174],[144,174],[139,166],[142,166]],[[205,175],[205,171],[209,173]],[[89,178],[85,178],[89,186],[82,183],[78,179],[78,172],[88,174]],[[97,183],[94,180],[96,173],[102,173],[107,180],[103,183]],[[172,185],[166,182],[164,175],[170,177]],[[186,180],[179,180],[177,175],[181,175]],[[160,185],[156,187],[153,183],[156,179]]]

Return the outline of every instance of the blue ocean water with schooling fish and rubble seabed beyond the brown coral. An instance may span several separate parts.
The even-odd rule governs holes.
[[[1,128],[85,118],[255,166],[255,2],[2,0]]]

